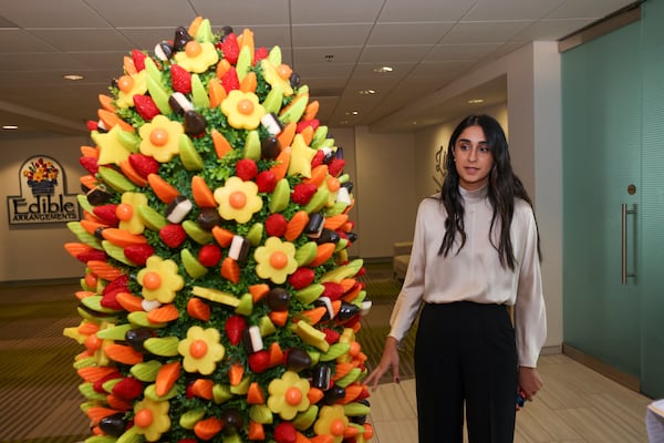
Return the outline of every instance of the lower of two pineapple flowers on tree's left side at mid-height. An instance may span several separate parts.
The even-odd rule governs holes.
[[[145,268],[136,275],[136,281],[143,286],[141,293],[144,299],[157,300],[160,303],[172,302],[175,293],[185,286],[185,280],[178,274],[177,264],[158,256],[147,259]]]

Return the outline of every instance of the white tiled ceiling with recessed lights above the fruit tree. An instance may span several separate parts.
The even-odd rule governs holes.
[[[464,72],[530,41],[569,35],[633,1],[2,0],[0,126],[85,133],[97,94],[122,75],[123,56],[152,51],[197,16],[210,19],[215,32],[249,28],[257,47],[279,45],[321,103],[325,124],[371,126]],[[394,71],[373,72],[382,65]],[[85,79],[65,81],[68,73]],[[464,99],[504,102],[505,87],[496,82]],[[366,89],[377,93],[359,93]],[[459,100],[448,109],[458,115],[465,105]]]

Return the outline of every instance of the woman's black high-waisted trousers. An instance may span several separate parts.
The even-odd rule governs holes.
[[[419,443],[513,441],[517,351],[507,307],[426,303],[415,341]]]

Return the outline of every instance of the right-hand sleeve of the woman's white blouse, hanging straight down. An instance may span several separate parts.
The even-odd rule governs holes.
[[[519,220],[515,219],[518,222],[518,230],[512,231],[512,236],[521,236],[522,241],[521,254],[518,257],[520,268],[515,306],[515,332],[519,365],[536,368],[540,350],[547,338],[547,313],[542,293],[535,215],[530,206],[525,205],[527,210],[520,212]]]

